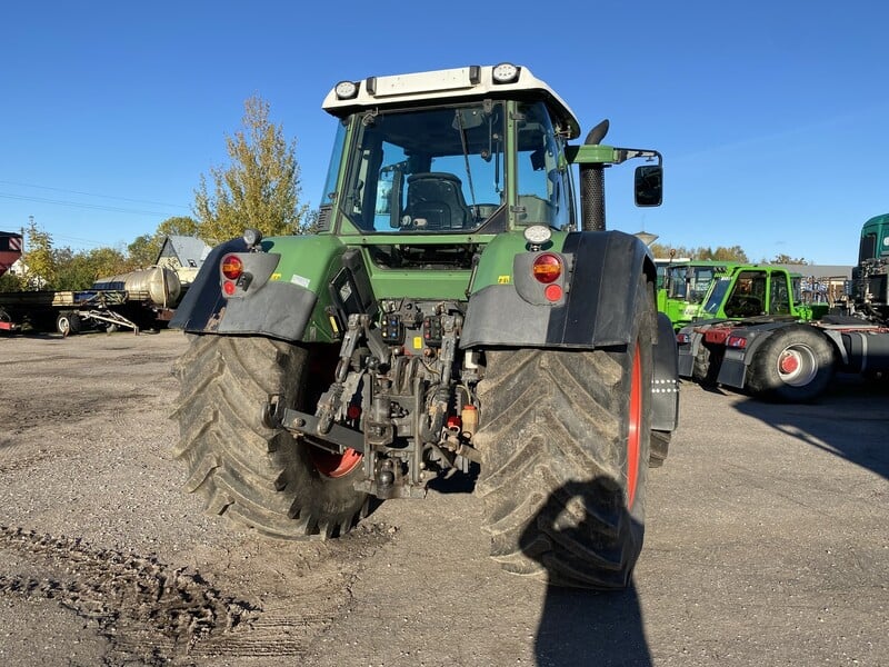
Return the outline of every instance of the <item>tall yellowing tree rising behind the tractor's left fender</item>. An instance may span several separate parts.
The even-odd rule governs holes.
[[[281,126],[269,120],[269,104],[254,96],[244,102],[242,127],[226,138],[230,165],[200,177],[194,191],[199,236],[220,242],[243,233],[246,227],[264,236],[293,233],[308,206],[301,193],[296,140],[284,139]]]

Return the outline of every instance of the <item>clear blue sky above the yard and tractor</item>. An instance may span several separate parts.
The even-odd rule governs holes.
[[[14,2],[0,9],[0,229],[123,247],[191,215],[258,94],[316,206],[339,80],[511,61],[582,133],[665,158],[665,203],[608,172],[608,223],[686,247],[853,263],[889,212],[889,6],[869,2]]]

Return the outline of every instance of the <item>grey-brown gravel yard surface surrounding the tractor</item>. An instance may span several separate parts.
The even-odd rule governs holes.
[[[889,412],[683,384],[633,586],[502,574],[459,485],[331,541],[202,514],[176,331],[0,338],[0,665],[889,665]]]

